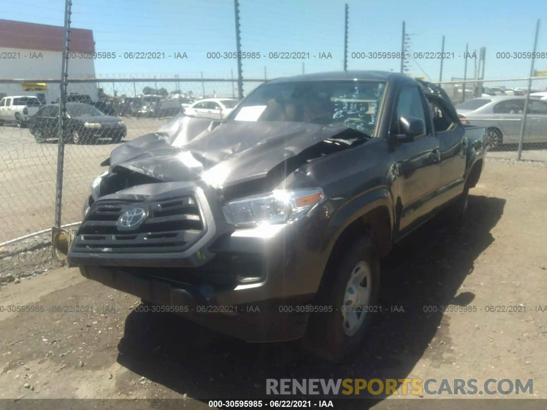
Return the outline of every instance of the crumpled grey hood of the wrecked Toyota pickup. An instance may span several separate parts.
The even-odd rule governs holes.
[[[166,182],[202,179],[222,188],[265,177],[276,165],[347,130],[301,122],[211,125],[211,119],[178,116],[158,132],[115,148],[109,165]]]

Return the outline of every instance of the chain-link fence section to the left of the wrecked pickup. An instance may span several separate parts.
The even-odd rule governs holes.
[[[37,80],[48,90],[60,81]],[[120,143],[157,131],[185,108],[192,115],[222,119],[235,106],[232,80],[74,80],[67,87],[62,174],[62,224],[78,222],[100,163]],[[246,81],[251,91],[260,80]],[[20,87],[16,81],[3,81]],[[20,93],[20,92],[19,92]],[[8,97],[9,98],[9,97]],[[201,99],[211,101],[201,106]],[[188,108],[194,105],[194,107]],[[59,143],[59,98],[13,98],[0,107],[0,243],[51,227],[54,220]]]

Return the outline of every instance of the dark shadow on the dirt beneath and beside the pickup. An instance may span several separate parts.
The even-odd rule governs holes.
[[[473,300],[471,292],[459,288],[473,273],[475,259],[494,241],[490,230],[504,206],[503,199],[470,196],[461,231],[451,235],[437,218],[398,244],[382,262],[383,312],[377,315],[363,353],[341,364],[302,353],[298,342],[247,344],[174,315],[135,311],[126,319],[118,362],[168,389],[205,401],[295,399],[266,396],[267,378],[404,379],[422,356],[434,364],[456,361],[443,358],[451,353],[451,339],[440,306],[465,306]],[[480,312],[453,314],[472,317]],[[336,406],[342,404],[370,407],[358,400]]]

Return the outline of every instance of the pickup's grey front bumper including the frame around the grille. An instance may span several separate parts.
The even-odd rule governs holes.
[[[193,183],[149,186],[155,187],[154,201],[196,194],[205,221],[203,236],[182,252],[152,254],[143,249],[115,254],[78,251],[78,243],[80,249],[83,243],[79,231],[68,255],[71,266],[79,265],[86,278],[174,307],[183,317],[248,342],[304,335],[310,312],[301,307],[313,301],[323,273],[322,255],[310,249],[320,237],[315,230],[321,224],[313,215],[293,224],[234,231],[226,224],[214,191],[200,190]]]

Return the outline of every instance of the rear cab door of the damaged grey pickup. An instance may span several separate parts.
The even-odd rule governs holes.
[[[467,138],[465,127],[452,114],[446,103],[440,99],[428,96],[432,108],[433,128],[439,140],[441,154],[439,190],[446,191],[443,202],[463,191],[463,175],[467,162]]]

